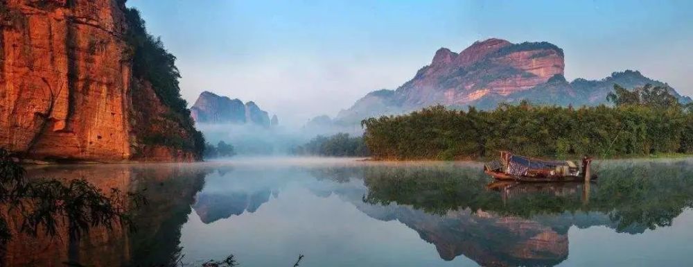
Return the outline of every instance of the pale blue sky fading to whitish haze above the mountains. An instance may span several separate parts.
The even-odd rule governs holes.
[[[181,94],[254,101],[283,125],[396,89],[446,47],[551,42],[565,77],[639,70],[693,96],[693,1],[129,0],[177,57]]]

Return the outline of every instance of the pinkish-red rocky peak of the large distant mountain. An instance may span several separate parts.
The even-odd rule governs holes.
[[[486,94],[505,96],[541,85],[563,75],[563,67],[563,51],[552,44],[489,39],[459,54],[439,49],[397,92],[404,107],[465,105]]]

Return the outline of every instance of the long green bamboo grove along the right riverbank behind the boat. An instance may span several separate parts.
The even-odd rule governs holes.
[[[633,94],[637,94],[633,96]],[[492,111],[435,106],[362,121],[379,159],[468,159],[511,150],[529,156],[613,157],[693,153],[693,113],[660,87],[615,85],[613,107],[501,104]],[[673,102],[672,102],[673,101]]]

